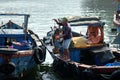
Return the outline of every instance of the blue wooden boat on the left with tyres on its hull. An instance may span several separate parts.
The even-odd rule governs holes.
[[[45,61],[46,48],[28,29],[29,14],[7,13],[0,17],[5,21],[0,26],[0,79],[20,79]]]

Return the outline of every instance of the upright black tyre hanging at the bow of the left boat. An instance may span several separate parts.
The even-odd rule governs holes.
[[[34,49],[34,60],[37,64],[41,64],[45,60],[45,55],[40,47]]]

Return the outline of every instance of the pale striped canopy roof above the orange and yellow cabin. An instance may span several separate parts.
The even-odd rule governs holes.
[[[71,26],[103,27],[105,25],[104,22],[100,21],[101,18],[98,16],[72,16],[66,18]],[[58,20],[61,22],[62,18],[58,18]]]

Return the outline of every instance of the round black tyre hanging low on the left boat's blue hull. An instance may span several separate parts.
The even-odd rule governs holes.
[[[16,65],[13,62],[3,63],[0,66],[0,72],[4,74],[11,74],[15,71]]]

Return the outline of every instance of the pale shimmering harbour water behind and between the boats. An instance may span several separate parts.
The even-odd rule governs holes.
[[[109,42],[111,27],[113,27],[113,13],[117,4],[116,0],[0,0],[0,13],[30,14],[28,26],[41,39],[46,36],[50,27],[55,25],[52,20],[54,18],[82,15],[100,16],[106,23],[105,40]],[[37,80],[39,78],[40,80],[63,80],[52,71],[50,67],[52,62],[50,54],[47,53],[45,66],[37,72]]]

